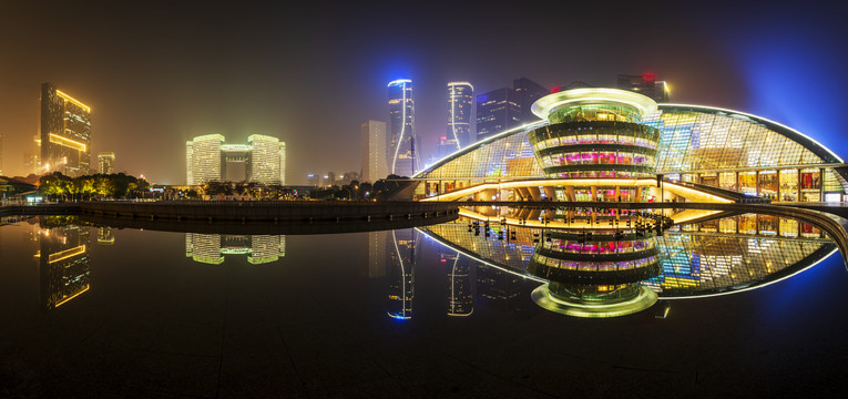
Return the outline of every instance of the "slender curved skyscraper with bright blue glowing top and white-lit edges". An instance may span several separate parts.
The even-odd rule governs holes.
[[[416,108],[412,100],[412,81],[400,79],[389,82],[389,127],[387,145],[389,173],[411,176],[419,170],[416,143]]]

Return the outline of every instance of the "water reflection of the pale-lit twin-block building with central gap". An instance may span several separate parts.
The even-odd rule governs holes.
[[[219,265],[224,255],[247,255],[254,265],[276,262],[286,256],[286,236],[185,234],[185,256],[194,262]]]

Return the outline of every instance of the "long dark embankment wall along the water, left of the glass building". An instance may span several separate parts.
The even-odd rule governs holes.
[[[177,222],[368,222],[431,218],[459,212],[457,203],[367,201],[104,201],[82,203],[80,209],[82,215]]]

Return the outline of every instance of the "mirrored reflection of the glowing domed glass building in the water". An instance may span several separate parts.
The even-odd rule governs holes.
[[[770,215],[719,215],[662,234],[648,219],[620,229],[454,222],[420,231],[478,264],[480,297],[525,300],[522,283],[537,280],[538,305],[580,317],[622,316],[658,300],[653,314],[664,318],[673,299],[758,288],[837,250],[820,228]]]

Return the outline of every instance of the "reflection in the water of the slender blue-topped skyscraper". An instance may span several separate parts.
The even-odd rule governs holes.
[[[392,231],[389,235],[389,316],[412,318],[415,297],[415,252],[418,233],[412,228]]]

